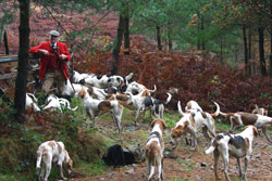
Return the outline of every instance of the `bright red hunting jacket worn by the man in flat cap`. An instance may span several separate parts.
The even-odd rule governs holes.
[[[67,51],[67,48],[66,48],[66,44],[63,43],[63,42],[57,42],[57,47],[58,49],[55,50],[58,52],[58,54],[65,54],[67,55],[67,60],[66,61],[71,61],[71,54],[69,53]],[[47,42],[42,42],[40,43],[39,46],[37,47],[34,47],[34,48],[30,48],[29,49],[29,53],[38,53],[38,51],[40,49],[44,49],[44,50],[47,50],[49,53],[51,54],[54,54],[53,53],[53,50],[51,50],[50,48],[50,42],[47,41]],[[39,62],[39,80],[42,80],[44,77],[45,77],[45,74],[48,69],[48,64],[49,64],[49,61],[52,60],[52,59],[55,59],[58,60],[57,55],[54,54],[53,56],[48,56],[48,55],[45,55],[45,54],[40,54],[40,62]],[[61,66],[60,69],[63,72],[63,75],[65,76],[65,79],[67,79],[67,65],[64,63],[63,64],[64,66]]]

